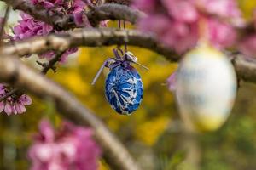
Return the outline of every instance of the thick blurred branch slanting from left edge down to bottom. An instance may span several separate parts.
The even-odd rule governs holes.
[[[0,81],[26,89],[41,99],[52,99],[58,111],[75,123],[93,128],[96,140],[101,144],[107,160],[114,168],[121,170],[138,170],[137,163],[132,159],[125,147],[108,130],[101,120],[85,108],[77,99],[55,82],[49,81],[44,75],[32,71],[12,56],[0,56]]]

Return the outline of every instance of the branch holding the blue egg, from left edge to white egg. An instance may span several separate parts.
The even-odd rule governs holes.
[[[98,47],[127,44],[141,48],[148,48],[158,54],[162,54],[171,61],[177,61],[179,56],[170,48],[166,48],[157,42],[154,36],[134,30],[119,30],[113,28],[84,28],[73,32],[45,37],[33,37],[21,42],[13,42],[6,45],[3,54],[38,54],[49,50],[65,50],[73,47]]]

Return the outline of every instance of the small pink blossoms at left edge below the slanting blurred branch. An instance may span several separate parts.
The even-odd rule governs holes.
[[[8,92],[8,88],[5,85],[0,84],[0,97],[3,97]],[[21,114],[26,111],[25,105],[31,104],[32,99],[26,94],[15,97],[10,96],[0,102],[0,112],[4,111],[8,116],[11,114]]]

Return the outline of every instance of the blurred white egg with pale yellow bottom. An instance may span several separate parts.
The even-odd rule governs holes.
[[[222,126],[236,98],[236,73],[230,60],[201,44],[184,56],[176,76],[177,104],[184,121],[199,131]]]

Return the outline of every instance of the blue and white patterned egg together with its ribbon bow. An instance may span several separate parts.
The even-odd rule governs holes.
[[[121,52],[122,55],[119,55]],[[131,63],[137,63],[137,57],[131,52],[113,49],[114,58],[107,59],[96,74],[92,84],[95,84],[104,67],[110,72],[105,82],[105,96],[113,110],[122,115],[131,115],[136,111],[143,99],[143,82],[137,70]],[[143,66],[143,65],[141,65]],[[143,68],[148,69],[143,66]]]

